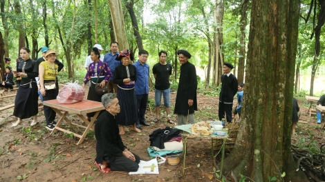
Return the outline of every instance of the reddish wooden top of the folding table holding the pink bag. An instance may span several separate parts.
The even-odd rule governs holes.
[[[89,112],[96,112],[104,110],[102,103],[97,101],[82,100],[77,103],[59,103],[57,99],[44,101],[44,105],[58,110],[64,110],[75,114],[87,114]]]

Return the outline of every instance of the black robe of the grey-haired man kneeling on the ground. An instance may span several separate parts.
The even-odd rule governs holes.
[[[115,116],[118,118],[118,116]],[[122,156],[127,147],[124,146],[118,130],[118,121],[111,113],[104,110],[95,123],[95,137],[97,140],[95,161],[102,163],[103,156],[109,156],[109,161],[114,161],[116,156]]]

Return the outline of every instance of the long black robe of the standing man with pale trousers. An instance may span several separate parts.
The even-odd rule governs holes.
[[[174,114],[193,114],[194,110],[198,110],[196,101],[196,89],[198,81],[196,80],[196,69],[192,63],[188,61],[180,65],[180,77],[176,95],[176,103]],[[188,99],[193,100],[193,105],[189,107]]]

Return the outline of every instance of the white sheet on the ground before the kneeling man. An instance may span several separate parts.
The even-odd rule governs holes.
[[[163,159],[158,163],[157,157]],[[129,174],[159,174],[158,164],[165,163],[166,159],[162,156],[156,156],[155,159],[151,159],[150,161],[142,161],[140,160],[139,168],[137,172],[129,172]],[[151,171],[151,167],[154,167],[154,171]]]

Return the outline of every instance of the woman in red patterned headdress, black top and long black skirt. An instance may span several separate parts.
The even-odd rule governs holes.
[[[136,90],[134,83],[136,82],[136,67],[131,65],[133,56],[130,50],[119,52],[116,60],[122,61],[122,65],[115,68],[113,74],[113,83],[118,84],[118,100],[120,101],[121,112],[118,120],[120,135],[125,134],[124,125],[132,125],[132,130],[141,132],[136,128],[136,120],[138,119],[138,110],[136,103]]]

